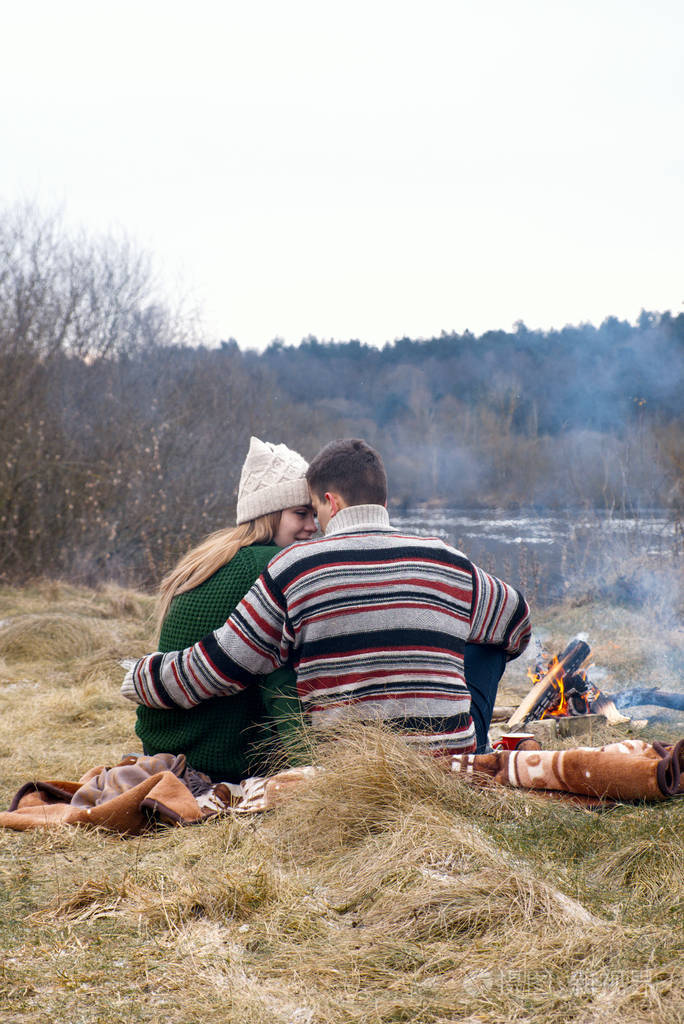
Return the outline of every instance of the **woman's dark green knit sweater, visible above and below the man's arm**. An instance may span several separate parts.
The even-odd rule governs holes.
[[[162,625],[158,650],[183,650],[222,626],[280,551],[252,545],[194,590],[178,594]],[[228,697],[214,697],[189,711],[138,707],[135,731],[147,754],[184,754],[187,763],[215,781],[239,781],[267,770],[276,734],[290,743],[298,731],[295,674],[279,669]],[[277,722],[276,730],[269,722]]]

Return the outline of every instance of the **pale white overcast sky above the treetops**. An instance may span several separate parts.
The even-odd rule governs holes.
[[[215,338],[684,311],[683,0],[0,0],[0,203]]]

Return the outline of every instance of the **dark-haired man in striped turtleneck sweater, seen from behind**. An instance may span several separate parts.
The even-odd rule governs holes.
[[[137,662],[124,696],[191,708],[289,662],[314,728],[381,721],[425,751],[482,749],[505,663],[529,640],[522,595],[443,541],[393,529],[382,460],[365,441],[327,445],[307,481],[324,538],[271,559],[195,646]]]

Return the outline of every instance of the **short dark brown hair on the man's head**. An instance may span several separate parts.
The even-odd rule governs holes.
[[[316,498],[338,494],[347,505],[384,505],[387,474],[375,449],[357,437],[331,441],[314,457],[306,482]]]

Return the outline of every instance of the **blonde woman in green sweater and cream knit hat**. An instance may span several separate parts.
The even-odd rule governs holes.
[[[237,525],[212,534],[162,581],[159,651],[182,650],[222,626],[273,555],[315,532],[306,469],[287,445],[251,438]],[[294,684],[294,673],[279,669],[229,700],[215,697],[189,711],[139,707],[135,731],[145,754],[184,754],[214,781],[237,782],[263,773],[274,736],[293,727]]]

